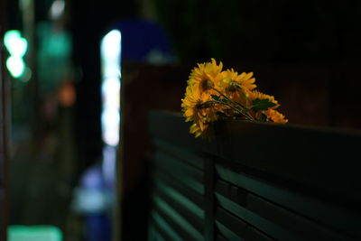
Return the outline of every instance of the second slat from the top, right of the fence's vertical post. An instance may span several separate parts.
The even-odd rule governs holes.
[[[222,208],[244,218],[279,240],[347,240],[347,236],[282,209],[225,181],[217,181],[216,196]]]

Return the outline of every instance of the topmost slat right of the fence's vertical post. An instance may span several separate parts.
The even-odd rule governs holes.
[[[232,184],[268,199],[277,205],[290,209],[303,217],[333,229],[335,232],[347,233],[349,236],[361,236],[361,218],[346,209],[340,209],[318,199],[311,199],[292,190],[284,190],[273,184],[255,179],[216,164],[218,176]]]

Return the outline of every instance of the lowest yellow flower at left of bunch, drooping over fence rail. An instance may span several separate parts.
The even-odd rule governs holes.
[[[209,93],[200,92],[194,86],[187,87],[186,95],[181,99],[181,107],[186,122],[193,121],[196,124],[190,126],[190,133],[199,135],[199,132],[201,134],[207,129],[209,122],[217,120],[217,108],[211,100]]]

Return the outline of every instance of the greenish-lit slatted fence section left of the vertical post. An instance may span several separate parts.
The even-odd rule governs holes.
[[[152,173],[153,240],[204,240],[202,159],[176,145],[154,142]]]

